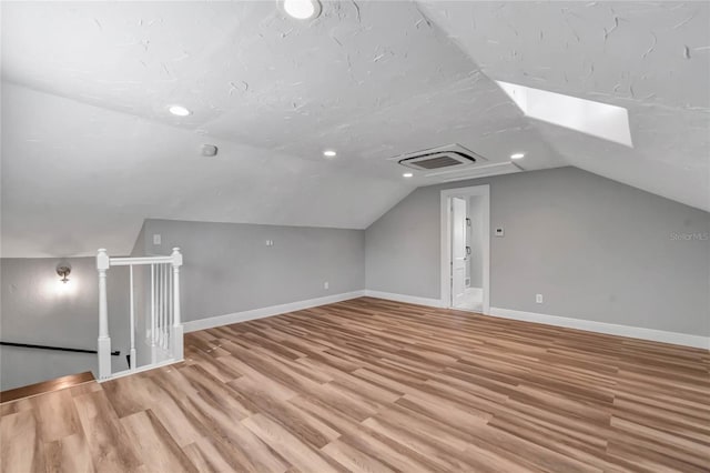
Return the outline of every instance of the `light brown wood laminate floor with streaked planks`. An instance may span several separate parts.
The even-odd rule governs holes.
[[[2,404],[3,472],[710,471],[708,351],[357,299]]]

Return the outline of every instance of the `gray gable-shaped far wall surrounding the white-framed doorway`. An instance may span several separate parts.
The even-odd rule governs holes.
[[[485,183],[491,306],[710,335],[710,214],[576,168],[415,190],[366,230],[366,288],[439,299],[440,190]]]

